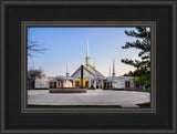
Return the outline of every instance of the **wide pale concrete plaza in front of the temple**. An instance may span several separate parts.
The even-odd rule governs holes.
[[[122,105],[138,107],[136,104],[150,101],[150,94],[135,91],[87,90],[86,93],[49,93],[49,90],[29,90],[28,104],[39,105]]]

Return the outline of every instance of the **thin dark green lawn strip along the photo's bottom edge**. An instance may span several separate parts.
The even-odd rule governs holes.
[[[121,105],[35,105],[28,104],[28,107],[122,107]]]

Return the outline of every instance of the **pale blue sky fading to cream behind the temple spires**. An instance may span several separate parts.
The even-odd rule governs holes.
[[[85,64],[88,38],[91,64],[95,58],[96,69],[108,76],[115,59],[116,75],[123,75],[135,68],[121,62],[122,59],[139,59],[136,49],[122,49],[126,41],[135,41],[124,31],[135,28],[29,28],[28,35],[49,48],[43,54],[35,53],[28,59],[28,66],[44,70],[46,76],[65,75],[66,62],[70,74]]]

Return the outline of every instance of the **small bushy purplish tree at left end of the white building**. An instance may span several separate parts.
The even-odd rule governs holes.
[[[39,69],[34,69],[33,66],[31,66],[28,70],[28,78],[42,78],[45,76],[45,74],[43,73],[43,69],[40,66]]]

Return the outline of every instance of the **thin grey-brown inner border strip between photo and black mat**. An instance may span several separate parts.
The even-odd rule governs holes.
[[[21,110],[22,113],[155,113],[156,112],[156,22],[155,21],[22,21],[21,22],[21,89],[27,89],[27,37],[28,28],[133,28],[133,27],[149,27],[150,28],[150,107],[113,107],[113,109],[84,109],[84,107],[53,107],[38,109],[27,107],[28,90],[21,91]]]

